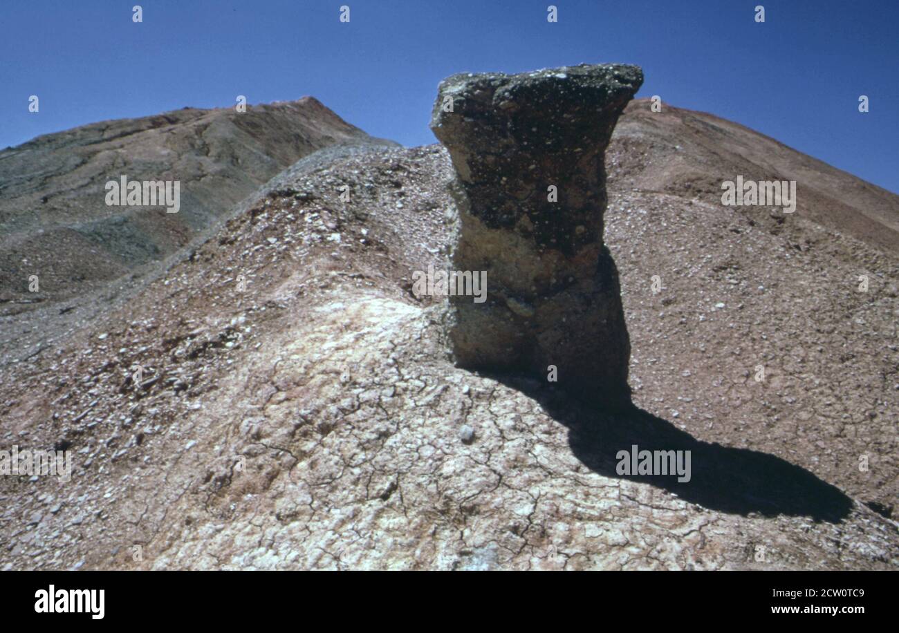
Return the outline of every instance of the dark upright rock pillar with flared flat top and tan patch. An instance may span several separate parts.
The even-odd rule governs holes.
[[[642,83],[638,67],[619,65],[441,83],[431,127],[458,173],[452,264],[487,281],[482,303],[450,299],[458,365],[556,374],[572,393],[629,400],[618,270],[602,242],[603,159]]]

